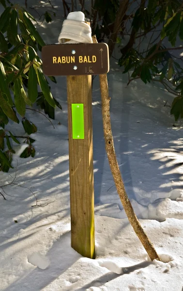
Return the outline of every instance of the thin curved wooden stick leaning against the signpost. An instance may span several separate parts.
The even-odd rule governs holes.
[[[97,42],[96,37],[93,37],[93,42]],[[111,169],[112,176],[114,178],[114,182],[116,185],[117,192],[120,196],[123,208],[126,212],[126,215],[129,219],[131,226],[133,227],[137,237],[140,242],[144,246],[151,260],[157,259],[161,261],[152,242],[149,240],[147,234],[143,230],[140,225],[137,216],[134,212],[134,209],[131,205],[131,202],[126,194],[124,183],[122,180],[122,176],[120,173],[120,168],[117,162],[116,153],[114,149],[114,141],[111,130],[111,122],[110,122],[110,107],[109,101],[110,97],[108,95],[108,83],[107,83],[107,75],[100,75],[100,87],[101,87],[101,99],[102,99],[102,119],[103,119],[103,128],[104,128],[104,138],[106,143],[106,151],[107,157]]]

